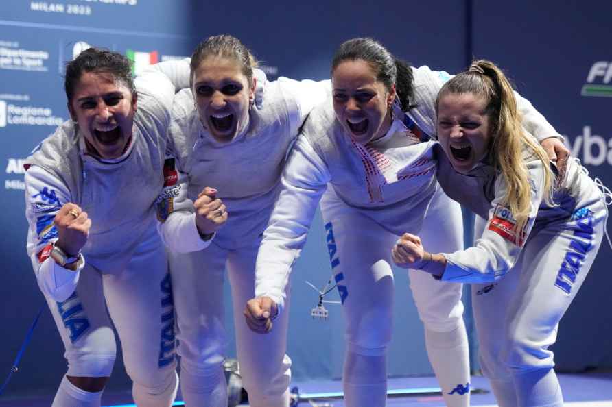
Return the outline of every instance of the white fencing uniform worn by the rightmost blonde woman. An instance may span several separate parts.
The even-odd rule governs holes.
[[[504,179],[489,164],[454,172],[440,151],[438,180],[449,196],[488,219],[474,247],[445,254],[442,279],[472,283],[482,369],[499,406],[563,406],[554,374],[558,323],[585,280],[607,219],[604,197],[569,158],[554,203],[543,201],[541,161],[525,154],[532,185],[526,227],[513,232]],[[482,222],[480,223],[482,225]],[[427,247],[425,246],[427,249]]]

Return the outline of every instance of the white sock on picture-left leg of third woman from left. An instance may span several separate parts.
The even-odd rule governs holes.
[[[387,398],[386,355],[364,356],[347,350],[343,385],[346,407],[384,407]]]

